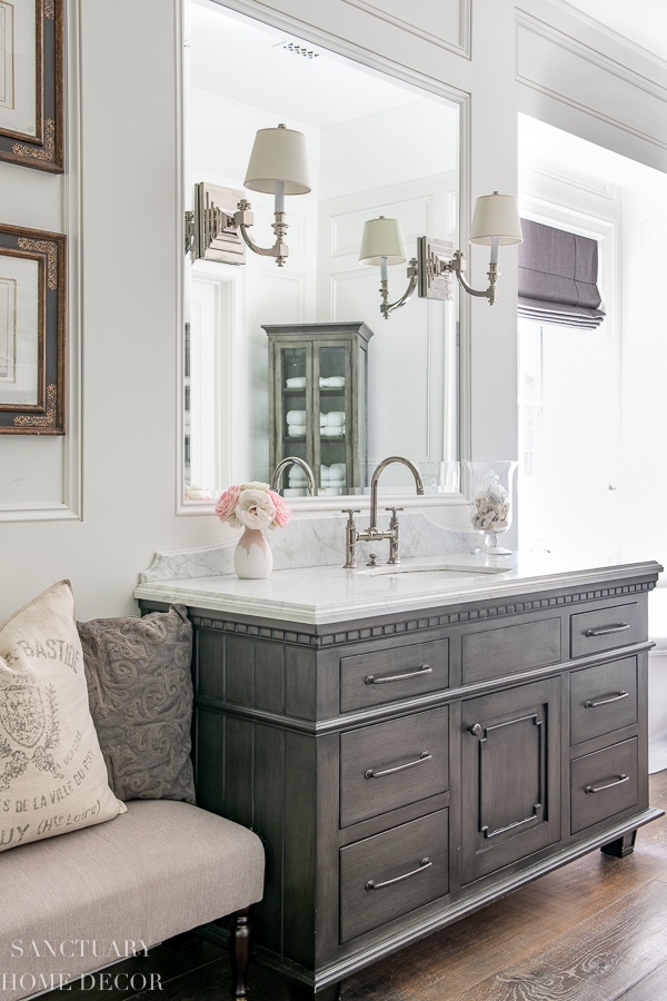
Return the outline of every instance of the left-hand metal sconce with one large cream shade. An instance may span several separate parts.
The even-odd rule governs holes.
[[[289,254],[285,196],[310,191],[303,133],[283,125],[259,129],[243,185],[273,195],[273,246],[258,247],[248,232],[253,216],[242,191],[202,182],[195,186],[195,211],[186,212],[186,254],[191,254],[191,260],[201,257],[241,265],[248,247],[253,254],[275,257],[279,268],[285,265]]]

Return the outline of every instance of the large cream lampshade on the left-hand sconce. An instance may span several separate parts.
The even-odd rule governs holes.
[[[286,195],[307,195],[310,175],[306,136],[295,129],[259,129],[243,184],[251,191],[273,195],[276,181],[285,181]]]

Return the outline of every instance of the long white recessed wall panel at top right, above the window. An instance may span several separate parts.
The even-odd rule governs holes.
[[[516,29],[520,83],[667,149],[667,88],[518,9]]]

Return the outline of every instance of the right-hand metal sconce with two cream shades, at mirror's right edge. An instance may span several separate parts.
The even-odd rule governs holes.
[[[489,300],[489,306],[492,306],[498,295],[498,247],[520,244],[522,239],[517,199],[512,195],[494,191],[492,195],[482,195],[477,199],[470,227],[470,242],[491,248],[487,289],[475,289],[464,278],[467,264],[462,250],[452,252],[454,244],[449,240],[419,237],[417,257],[408,264],[408,287],[400,299],[389,303],[387,268],[389,265],[405,264],[408,258],[400,222],[384,216],[366,222],[359,260],[361,264],[380,266],[380,313],[385,319],[389,319],[395,309],[405,306],[415,290],[424,299],[450,299],[452,274],[468,295],[484,296]]]

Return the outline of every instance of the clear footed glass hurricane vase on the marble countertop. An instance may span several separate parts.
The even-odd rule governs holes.
[[[507,532],[512,516],[512,479],[517,464],[508,460],[466,463],[470,477],[470,523],[481,535],[475,555],[511,556],[511,549],[498,545],[498,535]]]

